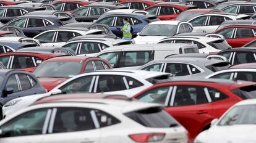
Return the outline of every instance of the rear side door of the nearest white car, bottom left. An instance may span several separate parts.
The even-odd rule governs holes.
[[[100,125],[92,108],[57,107],[52,116],[43,143],[100,142]]]

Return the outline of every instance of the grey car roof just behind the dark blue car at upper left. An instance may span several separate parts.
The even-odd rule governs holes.
[[[29,12],[26,15],[55,15],[56,17],[69,17],[70,20],[74,23],[77,22],[75,18],[69,13],[60,10],[40,10]]]

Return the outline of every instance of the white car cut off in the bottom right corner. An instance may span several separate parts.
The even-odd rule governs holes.
[[[211,121],[211,128],[198,134],[194,143],[255,143],[256,99],[242,100]]]

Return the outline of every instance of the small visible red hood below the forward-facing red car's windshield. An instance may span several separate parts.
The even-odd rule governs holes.
[[[38,80],[47,91],[51,91],[51,89],[66,81],[67,78],[38,78]]]

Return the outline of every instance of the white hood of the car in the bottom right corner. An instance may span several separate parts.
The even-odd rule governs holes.
[[[207,142],[256,142],[256,125],[213,126],[207,131]]]

